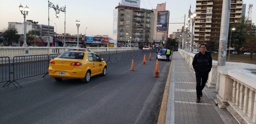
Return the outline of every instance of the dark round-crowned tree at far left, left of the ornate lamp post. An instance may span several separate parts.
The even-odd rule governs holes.
[[[5,43],[8,46],[12,45],[12,42],[19,43],[19,35],[16,28],[6,28],[3,30],[3,38],[0,40],[0,43]]]

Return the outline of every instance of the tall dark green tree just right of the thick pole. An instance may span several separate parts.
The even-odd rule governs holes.
[[[235,31],[231,29],[235,28]],[[237,51],[237,55],[240,54],[240,48],[245,46],[246,39],[248,37],[249,26],[246,23],[246,18],[244,16],[241,17],[238,22],[229,25],[229,32],[232,31],[231,43],[235,50]],[[230,33],[229,33],[230,34]],[[230,41],[230,35],[228,37],[228,41]]]

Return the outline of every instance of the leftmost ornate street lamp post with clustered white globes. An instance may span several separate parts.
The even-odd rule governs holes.
[[[23,6],[20,4],[19,9],[20,9],[21,14],[24,16],[24,40],[23,40],[24,42],[23,42],[22,46],[23,47],[28,47],[28,45],[27,45],[27,36],[26,36],[26,34],[27,34],[26,15],[28,15],[29,8],[28,8],[27,5],[26,5],[25,8],[23,8]]]

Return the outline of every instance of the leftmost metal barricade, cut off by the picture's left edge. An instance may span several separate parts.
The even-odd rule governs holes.
[[[11,72],[10,72],[10,58],[0,57],[0,83],[6,82],[3,87],[11,82]]]

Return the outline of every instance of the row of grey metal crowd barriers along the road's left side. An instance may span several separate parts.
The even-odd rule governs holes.
[[[94,52],[105,62],[114,62],[133,58],[144,54],[155,52],[155,50],[126,50],[126,51],[105,51]],[[3,87],[12,83],[15,87],[18,84],[16,81],[27,77],[32,77],[41,74],[48,74],[49,61],[57,58],[60,54],[50,55],[34,55],[34,56],[16,56],[10,62],[9,57],[0,57],[0,83],[6,82]],[[44,76],[45,76],[44,75]],[[12,78],[12,80],[11,80]]]

